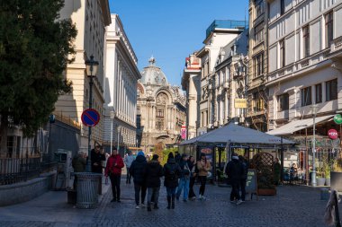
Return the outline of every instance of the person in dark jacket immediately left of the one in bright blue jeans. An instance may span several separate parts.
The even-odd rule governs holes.
[[[175,209],[175,188],[178,186],[178,178],[181,168],[175,162],[174,153],[168,154],[168,159],[164,165],[164,186],[167,192],[167,209]]]

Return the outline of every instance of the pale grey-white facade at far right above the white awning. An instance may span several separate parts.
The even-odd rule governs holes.
[[[275,0],[269,8],[270,129],[315,114],[326,117],[316,123],[327,135],[333,125],[324,120],[342,109],[342,1]]]

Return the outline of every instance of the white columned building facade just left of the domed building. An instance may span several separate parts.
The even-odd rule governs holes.
[[[105,104],[103,144],[107,147],[136,146],[138,59],[130,46],[120,17],[112,14],[105,33]],[[111,118],[111,111],[114,118]],[[112,132],[111,132],[112,130]]]

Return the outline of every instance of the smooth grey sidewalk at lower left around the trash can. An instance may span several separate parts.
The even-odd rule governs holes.
[[[110,184],[104,184],[103,201]],[[49,191],[31,201],[18,205],[0,207],[0,226],[78,226],[79,223],[92,223],[96,209],[78,209],[67,204],[67,191]]]

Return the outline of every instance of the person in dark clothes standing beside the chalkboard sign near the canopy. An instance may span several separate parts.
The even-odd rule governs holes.
[[[231,183],[230,203],[240,205],[243,201],[238,193],[238,187],[243,175],[243,166],[242,163],[238,161],[238,154],[233,153],[231,156],[231,161],[227,164],[226,174]]]

